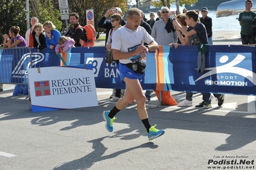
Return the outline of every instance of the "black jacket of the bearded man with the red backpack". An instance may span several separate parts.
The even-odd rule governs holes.
[[[79,43],[79,40],[87,40],[87,37],[86,37],[86,31],[85,29],[83,29],[82,26],[80,26],[80,24],[76,24],[74,25],[74,27],[71,27],[69,29],[69,31],[67,31],[67,33],[65,33],[65,36],[69,36],[71,38],[74,39],[74,46],[75,47],[81,47],[81,44]]]

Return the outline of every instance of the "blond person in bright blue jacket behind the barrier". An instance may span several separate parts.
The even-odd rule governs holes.
[[[47,20],[44,25],[44,32],[46,33],[46,46],[49,49],[55,49],[56,45],[58,44],[58,39],[60,38],[60,31],[55,29],[55,25],[53,22]]]

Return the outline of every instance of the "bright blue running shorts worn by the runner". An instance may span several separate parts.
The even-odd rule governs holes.
[[[133,70],[131,70],[130,68],[128,68],[128,66],[119,63],[119,72],[120,72],[120,79],[121,82],[124,82],[124,77],[128,78],[128,79],[138,79],[139,82],[142,81],[142,75],[140,73],[135,73]]]

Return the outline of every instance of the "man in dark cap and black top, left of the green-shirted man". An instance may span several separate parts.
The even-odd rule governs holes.
[[[208,44],[212,45],[212,18],[207,16],[208,8],[203,7],[201,8],[201,15],[200,22],[205,25],[208,37]]]

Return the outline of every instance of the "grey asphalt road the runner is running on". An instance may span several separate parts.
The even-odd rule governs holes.
[[[102,112],[115,104],[112,89],[97,89],[97,107],[34,113],[26,97],[12,96],[12,88],[4,84],[0,92],[1,170],[256,169],[254,96],[226,95],[222,107],[214,100],[205,110],[157,107],[153,93],[146,105],[149,122],[166,134],[148,141],[136,104],[119,112],[114,132],[107,132]],[[171,94],[177,102],[185,98],[183,92]],[[193,104],[200,102],[198,93]]]

